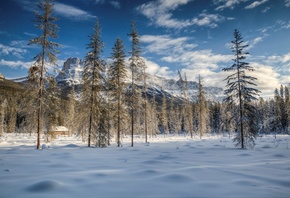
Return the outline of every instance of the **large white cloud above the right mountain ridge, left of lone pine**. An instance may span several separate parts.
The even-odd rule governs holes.
[[[224,86],[225,75],[221,72],[220,67],[224,64],[230,64],[231,55],[215,54],[211,50],[196,50],[196,44],[188,44],[190,42],[188,37],[172,38],[168,35],[145,35],[141,37],[141,41],[148,44],[145,47],[148,52],[161,55],[160,60],[180,66],[182,72],[186,73],[188,80],[196,80],[198,75],[201,75],[206,86]],[[156,65],[153,66],[151,70],[159,70]],[[163,71],[164,77],[176,76],[177,74],[176,71],[171,74],[166,67],[160,71]]]

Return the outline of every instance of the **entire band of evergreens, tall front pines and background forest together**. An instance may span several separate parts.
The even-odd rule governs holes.
[[[289,87],[276,89],[273,99],[259,98],[254,87],[254,77],[247,72],[254,69],[245,62],[247,52],[240,33],[234,31],[232,51],[234,63],[225,68],[227,77],[225,100],[208,101],[202,79],[199,77],[197,100],[190,100],[187,78],[180,77],[183,100],[167,97],[161,99],[147,94],[146,64],[141,56],[140,36],[135,22],[131,23],[129,66],[125,64],[126,52],[120,38],[112,47],[108,64],[101,59],[104,44],[101,28],[96,21],[88,40],[84,60],[83,85],[62,90],[54,76],[46,71],[47,64],[55,64],[59,44],[50,41],[57,38],[57,20],[52,16],[51,0],[39,3],[36,27],[42,34],[30,41],[39,45],[40,53],[28,72],[23,90],[1,90],[0,133],[3,131],[37,132],[37,148],[43,130],[66,126],[71,133],[82,136],[88,146],[106,147],[115,142],[122,145],[124,135],[144,136],[145,142],[156,134],[184,134],[202,138],[206,133],[234,135],[237,145],[253,147],[258,134],[289,133]],[[129,71],[129,72],[128,72]],[[130,83],[128,83],[130,79]]]

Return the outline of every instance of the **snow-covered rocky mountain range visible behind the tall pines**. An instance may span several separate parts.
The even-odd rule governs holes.
[[[58,84],[61,86],[71,86],[82,84],[83,61],[79,58],[69,58],[64,64],[61,72],[56,77]],[[130,78],[127,82],[131,82]],[[141,85],[139,85],[141,86]],[[181,81],[166,79],[159,76],[147,74],[147,95],[155,95],[156,99],[162,98],[165,94],[167,97],[182,99]],[[196,100],[198,92],[198,83],[188,81],[188,95],[191,100]],[[223,89],[219,87],[204,87],[208,100],[221,101],[223,98]]]

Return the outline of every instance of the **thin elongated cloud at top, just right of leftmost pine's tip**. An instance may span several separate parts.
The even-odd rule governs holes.
[[[54,4],[54,11],[56,14],[72,20],[82,21],[96,18],[96,16],[91,15],[89,12],[86,12],[74,6],[57,2]]]

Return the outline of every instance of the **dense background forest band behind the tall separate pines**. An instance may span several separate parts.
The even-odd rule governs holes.
[[[24,86],[26,91],[1,90],[1,132],[35,133],[37,131],[37,109],[34,107],[37,102],[35,97],[37,92],[33,92],[29,84]],[[125,84],[125,87],[129,89],[130,85]],[[84,121],[88,110],[84,108],[79,94],[76,94],[74,87],[68,92],[56,86],[55,92],[52,91],[53,87],[47,87],[45,91],[44,128],[66,126],[73,134],[80,135],[84,141],[87,141],[88,126]],[[119,140],[121,144],[122,136],[131,135],[130,94],[125,91],[122,95],[124,103],[119,115],[122,117],[122,121],[119,123],[118,114],[116,114],[118,103],[112,96],[113,91],[103,90],[102,95],[104,98],[101,106],[107,108],[105,112],[102,112],[102,118],[108,128],[105,133],[108,137],[108,144],[112,141],[112,137],[117,138],[118,127],[122,128]],[[160,101],[154,95],[147,99],[144,95],[145,93],[142,92],[138,99],[140,109],[136,112],[138,115],[136,115],[134,124],[134,134],[143,136],[144,141],[145,137],[157,134],[184,134],[201,138],[204,134],[223,134],[233,137],[238,131],[236,119],[233,117],[236,114],[236,108],[229,109],[225,102],[204,100],[205,106],[202,110],[203,115],[201,115],[201,102],[199,101],[187,102],[184,100],[181,103],[180,100],[176,101],[176,98],[166,97],[165,94]],[[260,135],[289,134],[289,87],[281,85],[279,89],[273,91],[273,96],[271,99],[259,98],[258,101],[253,102],[256,108],[253,121],[257,126],[257,133]],[[203,118],[204,120],[202,120]],[[202,122],[204,122],[203,125]],[[92,141],[94,144],[97,142],[97,135],[98,131],[93,130]]]

